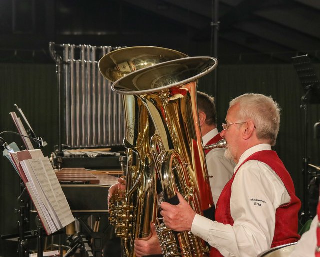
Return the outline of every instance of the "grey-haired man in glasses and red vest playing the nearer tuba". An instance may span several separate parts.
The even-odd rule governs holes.
[[[237,164],[224,187],[211,221],[196,214],[178,193],[180,203],[161,203],[167,227],[191,231],[211,246],[210,256],[256,256],[299,239],[293,181],[276,152],[280,109],[271,98],[244,94],[230,102],[221,136],[225,156]]]

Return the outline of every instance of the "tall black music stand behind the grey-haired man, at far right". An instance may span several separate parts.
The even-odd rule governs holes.
[[[310,218],[310,212],[308,208],[308,151],[307,151],[307,141],[308,141],[308,116],[307,116],[307,105],[320,103],[320,83],[315,74],[313,65],[309,56],[301,55],[291,58],[293,61],[293,66],[298,74],[302,88],[304,90],[304,95],[301,98],[301,108],[305,112],[305,134],[304,134],[304,157],[303,157],[303,205],[301,217],[306,220]]]

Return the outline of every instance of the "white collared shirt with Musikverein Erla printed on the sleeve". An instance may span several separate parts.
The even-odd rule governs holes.
[[[262,150],[271,150],[271,146],[259,144],[246,150],[234,172],[247,157]],[[256,256],[270,248],[276,209],[289,201],[290,195],[278,175],[265,163],[250,160],[239,168],[232,183],[233,226],[196,214],[191,232],[219,249],[223,256]]]

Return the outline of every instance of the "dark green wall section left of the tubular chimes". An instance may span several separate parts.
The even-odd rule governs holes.
[[[12,64],[0,63],[0,131],[15,131],[9,112],[22,109],[37,136],[48,143],[43,148],[45,156],[50,156],[53,145],[57,143],[57,87],[55,85],[55,66],[53,64]],[[22,145],[19,136],[3,134],[6,142],[15,141]],[[1,154],[2,155],[2,154]],[[0,234],[18,233],[18,196],[20,179],[10,162],[0,158]],[[35,215],[30,216],[34,224]],[[0,239],[0,256],[15,256],[16,242]]]

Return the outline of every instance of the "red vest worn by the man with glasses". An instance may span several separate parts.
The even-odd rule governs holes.
[[[280,160],[275,151],[264,150],[253,153],[240,166],[242,166],[248,160],[258,160],[269,165],[280,177],[291,197],[289,203],[278,207],[276,210],[275,230],[271,248],[286,243],[296,242],[300,238],[300,236],[297,233],[297,230],[298,211],[300,209],[301,202],[295,195],[295,189],[290,174],[284,167],[282,161]],[[216,221],[221,222],[223,224],[233,225],[234,223],[230,211],[231,186],[239,168],[236,170],[230,181],[223,188],[223,191],[221,192],[219,200],[216,204],[217,207],[215,210],[215,219]],[[216,248],[211,247],[210,257],[212,256],[216,257],[222,255]]]

